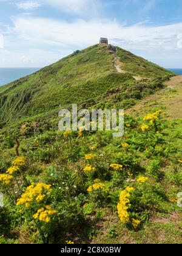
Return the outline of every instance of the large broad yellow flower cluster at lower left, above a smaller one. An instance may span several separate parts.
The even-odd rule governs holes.
[[[21,198],[18,199],[16,205],[24,205],[26,208],[29,208],[31,202],[35,199],[36,202],[41,202],[45,195],[52,191],[51,185],[47,185],[45,183],[38,183],[30,185],[27,187],[24,194],[22,194]]]

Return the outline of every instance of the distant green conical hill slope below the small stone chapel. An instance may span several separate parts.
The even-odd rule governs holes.
[[[116,71],[115,55],[121,61],[124,74]],[[173,74],[121,48],[95,45],[1,87],[0,128],[5,123],[45,115],[60,106],[77,103],[88,107],[102,101],[99,105],[103,103],[106,107],[108,91],[115,88],[126,91],[129,85],[133,91],[136,87],[133,75],[152,79]]]

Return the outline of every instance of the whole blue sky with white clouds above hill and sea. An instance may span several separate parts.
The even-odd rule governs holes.
[[[0,0],[0,67],[42,67],[109,38],[182,68],[181,0]]]

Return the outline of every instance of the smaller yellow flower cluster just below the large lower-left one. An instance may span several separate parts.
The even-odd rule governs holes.
[[[56,211],[52,210],[52,207],[50,207],[49,205],[40,208],[35,215],[33,215],[34,219],[39,219],[39,221],[43,221],[46,223],[49,223],[51,218],[50,216],[55,215]]]

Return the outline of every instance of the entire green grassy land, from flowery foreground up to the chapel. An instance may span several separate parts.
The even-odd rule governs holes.
[[[0,87],[0,243],[181,243],[181,83],[96,45]],[[59,132],[73,103],[125,108],[124,136]]]

